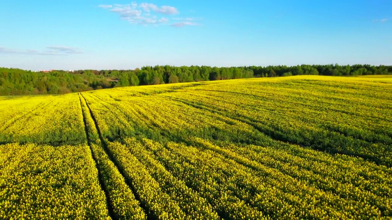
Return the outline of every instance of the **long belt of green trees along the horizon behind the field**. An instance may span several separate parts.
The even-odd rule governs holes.
[[[248,67],[146,66],[135,70],[30,70],[0,68],[0,95],[66,94],[103,88],[296,75],[359,76],[392,74],[390,66],[297,65]]]

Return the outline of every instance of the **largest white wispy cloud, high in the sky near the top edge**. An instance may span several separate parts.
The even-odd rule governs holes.
[[[133,2],[131,4],[113,4],[113,5],[98,5],[103,9],[107,9],[113,13],[116,13],[122,18],[123,20],[127,20],[133,24],[140,24],[140,25],[158,25],[158,24],[165,24],[169,23],[171,20],[175,21],[183,21],[172,23],[171,26],[174,27],[183,27],[185,25],[199,25],[197,23],[192,23],[193,18],[170,18],[170,16],[174,16],[179,14],[180,11],[176,7],[172,6],[158,6],[151,3],[141,3],[138,4]],[[161,17],[162,14],[165,17]],[[169,16],[169,17],[167,17]]]

